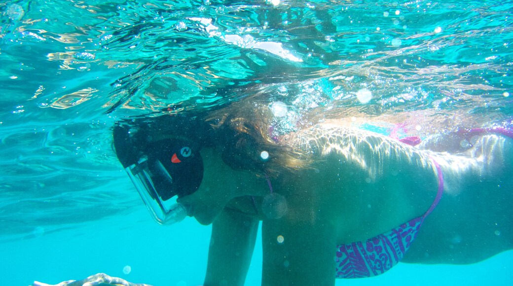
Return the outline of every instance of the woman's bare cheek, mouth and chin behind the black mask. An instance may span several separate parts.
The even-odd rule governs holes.
[[[220,148],[201,150],[203,180],[198,191],[178,202],[191,206],[191,216],[201,224],[210,224],[227,203],[239,196],[263,196],[269,192],[265,181],[249,172],[235,171],[222,159]]]

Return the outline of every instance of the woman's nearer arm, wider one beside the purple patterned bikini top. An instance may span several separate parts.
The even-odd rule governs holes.
[[[312,174],[275,184],[288,210],[279,219],[262,221],[263,286],[334,285],[337,218],[329,190]]]

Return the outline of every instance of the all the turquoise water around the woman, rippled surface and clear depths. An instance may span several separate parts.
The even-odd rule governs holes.
[[[201,284],[209,227],[151,221],[111,149],[127,116],[194,114],[252,90],[297,116],[389,118],[401,136],[513,125],[511,1],[4,1],[0,17],[2,285],[97,272]],[[511,262],[337,283],[507,284]]]

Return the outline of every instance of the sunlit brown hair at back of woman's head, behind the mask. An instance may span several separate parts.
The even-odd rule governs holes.
[[[272,137],[272,112],[269,103],[256,96],[216,110],[206,121],[224,140],[223,160],[235,170],[276,177],[281,173],[306,168],[308,156],[300,149],[280,144]],[[262,158],[261,152],[269,154]]]

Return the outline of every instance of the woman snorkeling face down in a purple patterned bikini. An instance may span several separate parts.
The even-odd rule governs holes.
[[[262,285],[333,285],[512,248],[511,131],[399,140],[306,121],[317,123],[284,131],[270,103],[247,98],[118,122],[114,147],[157,221],[212,223],[206,286],[244,284],[260,221]],[[105,274],[58,285],[98,283],[144,285]]]

